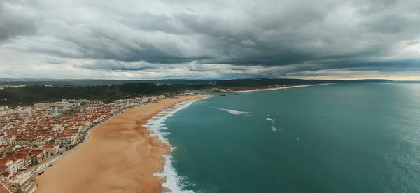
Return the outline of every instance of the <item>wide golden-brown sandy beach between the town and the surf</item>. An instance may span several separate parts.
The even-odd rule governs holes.
[[[162,109],[204,97],[208,95],[163,99],[112,117],[95,127],[86,143],[38,176],[36,192],[162,192],[153,174],[162,171],[162,155],[171,150],[142,125]]]

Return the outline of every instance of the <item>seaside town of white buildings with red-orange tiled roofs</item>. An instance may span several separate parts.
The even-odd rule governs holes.
[[[162,94],[113,103],[62,99],[15,108],[0,106],[0,193],[34,192],[36,176],[83,143],[90,129],[113,115],[168,96],[192,94]]]

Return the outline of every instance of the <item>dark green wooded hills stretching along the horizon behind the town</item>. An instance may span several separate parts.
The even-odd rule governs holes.
[[[3,81],[3,82],[1,82]],[[223,88],[249,90],[265,87],[325,83],[388,83],[392,80],[0,80],[0,106],[16,106],[61,99],[113,101],[128,97]]]

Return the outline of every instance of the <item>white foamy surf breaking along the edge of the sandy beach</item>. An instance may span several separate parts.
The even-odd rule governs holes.
[[[172,108],[162,110],[162,112],[165,112],[165,113],[158,113],[157,115],[155,115],[155,117],[152,117],[150,120],[148,120],[147,124],[144,125],[144,127],[146,127],[151,132],[151,136],[158,136],[160,140],[170,145],[169,141],[165,137],[169,134],[169,132],[164,132],[165,130],[168,129],[167,127],[165,127],[165,124],[164,124],[165,120],[167,120],[168,117],[174,116],[174,114],[178,112],[179,110],[187,108],[192,103],[198,100],[200,99],[186,101],[183,103],[176,104]],[[172,147],[171,145],[171,151],[173,152],[174,150],[176,150],[176,147]],[[157,176],[158,178],[166,178],[166,182],[163,183],[162,186],[169,189],[170,190],[169,192],[193,193],[194,191],[181,190],[183,187],[183,184],[181,183],[182,178],[176,173],[174,167],[172,166],[172,156],[164,155],[163,157],[165,159],[164,171],[162,173],[155,173],[155,176]]]

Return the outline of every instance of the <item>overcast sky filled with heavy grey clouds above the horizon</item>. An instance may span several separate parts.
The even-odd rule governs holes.
[[[0,78],[420,80],[419,0],[0,0]]]

